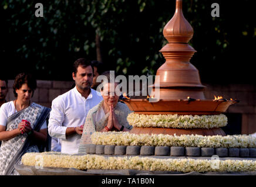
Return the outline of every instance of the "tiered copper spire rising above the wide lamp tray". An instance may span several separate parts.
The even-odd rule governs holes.
[[[188,44],[193,37],[193,28],[184,18],[182,1],[176,0],[173,18],[163,30],[169,43],[160,52],[166,62],[157,70],[160,75],[160,99],[205,99],[198,70],[190,63],[196,50]]]

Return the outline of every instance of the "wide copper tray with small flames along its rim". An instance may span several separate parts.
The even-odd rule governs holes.
[[[177,115],[219,115],[225,112],[236,100],[197,99],[163,100],[149,102],[149,99],[122,99],[134,113],[144,115],[177,114]]]

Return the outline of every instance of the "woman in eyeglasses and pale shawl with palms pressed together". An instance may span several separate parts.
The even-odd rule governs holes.
[[[127,116],[132,111],[126,104],[118,102],[119,94],[114,92],[117,85],[116,82],[110,82],[109,78],[108,82],[103,82],[100,91],[103,101],[90,109],[87,114],[78,153],[85,153],[86,144],[92,143],[90,135],[95,131],[130,131],[132,129],[127,122]]]

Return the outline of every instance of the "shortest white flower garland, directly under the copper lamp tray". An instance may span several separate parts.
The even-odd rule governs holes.
[[[227,116],[221,115],[139,115],[130,113],[127,121],[133,127],[166,127],[183,129],[212,129],[227,125]]]

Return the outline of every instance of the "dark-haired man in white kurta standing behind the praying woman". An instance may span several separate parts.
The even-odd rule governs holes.
[[[76,86],[52,101],[48,131],[50,136],[60,138],[61,152],[77,154],[82,126],[91,108],[102,101],[99,92],[91,89],[92,66],[79,58],[74,63],[73,79]]]

